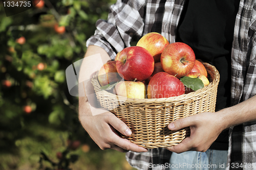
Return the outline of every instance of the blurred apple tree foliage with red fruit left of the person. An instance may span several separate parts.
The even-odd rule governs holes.
[[[0,3],[0,169],[133,169],[81,127],[65,70],[116,0],[41,0],[7,17]]]

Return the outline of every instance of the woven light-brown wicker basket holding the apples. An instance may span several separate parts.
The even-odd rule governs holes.
[[[188,94],[161,99],[126,99],[100,89],[97,75],[92,79],[99,104],[114,113],[131,130],[132,135],[123,138],[144,148],[170,147],[179,144],[190,134],[189,128],[170,131],[167,125],[176,119],[201,112],[215,112],[218,70],[203,63],[210,84]]]

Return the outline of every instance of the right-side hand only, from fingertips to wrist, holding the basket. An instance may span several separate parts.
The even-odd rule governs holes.
[[[224,130],[216,113],[204,112],[175,120],[168,125],[170,130],[190,127],[190,136],[180,144],[168,147],[169,151],[182,153],[185,151],[205,152]]]

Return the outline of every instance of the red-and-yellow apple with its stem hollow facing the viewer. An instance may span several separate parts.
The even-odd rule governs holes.
[[[183,42],[167,45],[161,55],[161,65],[168,74],[181,78],[194,67],[196,61],[192,48]]]

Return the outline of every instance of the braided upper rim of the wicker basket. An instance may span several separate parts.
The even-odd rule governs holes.
[[[116,94],[110,93],[106,90],[101,90],[100,84],[98,82],[97,73],[93,76],[92,84],[94,86],[94,90],[96,93],[101,93],[101,95],[110,96],[111,98],[118,98],[119,100],[125,101],[125,103],[134,103],[134,104],[135,103],[136,104],[155,103],[155,104],[157,104],[157,103],[168,103],[170,101],[178,102],[178,101],[185,101],[188,99],[191,100],[191,99],[196,98],[197,96],[208,93],[212,88],[215,88],[216,86],[218,86],[218,83],[220,81],[220,74],[219,74],[219,71],[216,69],[216,67],[209,63],[206,63],[206,62],[202,62],[202,63],[205,66],[205,68],[207,69],[207,72],[210,71],[212,73],[212,81],[207,86],[205,86],[199,90],[189,92],[188,94],[172,96],[169,98],[159,98],[159,99],[125,98],[124,96],[116,95]],[[209,72],[208,72],[208,74],[209,74]]]

